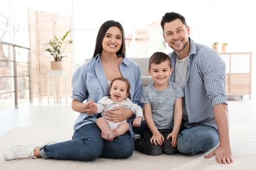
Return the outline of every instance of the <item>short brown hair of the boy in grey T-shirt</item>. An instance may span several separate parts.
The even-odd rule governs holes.
[[[160,64],[161,62],[169,61],[170,68],[171,66],[171,58],[165,54],[164,52],[154,52],[152,56],[150,57],[149,63],[148,63],[148,69],[150,69],[150,65],[152,63],[154,64]]]

